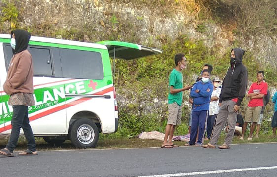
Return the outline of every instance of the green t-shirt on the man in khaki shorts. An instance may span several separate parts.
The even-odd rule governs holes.
[[[180,71],[174,69],[169,75],[169,87],[173,86],[176,89],[183,88],[183,74]],[[168,103],[177,102],[178,105],[182,105],[183,92],[168,94]]]

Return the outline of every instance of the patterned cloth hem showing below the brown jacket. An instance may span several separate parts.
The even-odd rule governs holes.
[[[35,100],[32,93],[15,93],[9,98],[9,105],[35,105]]]

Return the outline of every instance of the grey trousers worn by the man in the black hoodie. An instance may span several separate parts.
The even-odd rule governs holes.
[[[225,137],[224,144],[230,146],[237,122],[237,113],[233,111],[235,104],[236,103],[232,100],[222,101],[209,142],[211,145],[216,145],[221,130],[227,121],[229,130]]]

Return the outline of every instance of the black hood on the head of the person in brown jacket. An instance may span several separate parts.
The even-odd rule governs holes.
[[[25,30],[13,30],[10,33],[10,36],[12,37],[12,34],[15,35],[15,49],[12,48],[13,54],[17,54],[19,52],[22,52],[23,50],[26,50],[28,47],[28,43],[31,37],[31,34]]]

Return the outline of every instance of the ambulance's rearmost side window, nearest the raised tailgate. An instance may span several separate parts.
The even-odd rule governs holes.
[[[101,54],[98,52],[61,49],[62,77],[103,79]]]

